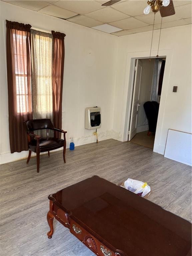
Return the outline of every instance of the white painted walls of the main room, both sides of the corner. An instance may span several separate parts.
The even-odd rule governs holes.
[[[1,162],[27,156],[27,152],[10,154],[5,19],[66,34],[62,128],[68,131],[67,145],[69,137],[75,138],[75,145],[95,141],[93,131],[84,128],[84,112],[86,107],[96,105],[102,109],[99,140],[124,141],[132,58],[149,56],[152,32],[116,37],[2,1],[0,9]],[[153,57],[157,54],[158,38],[159,30],[155,30]],[[163,29],[159,55],[167,59],[154,151],[163,154],[168,129],[191,132],[191,25]],[[172,92],[173,86],[178,86],[177,93]]]

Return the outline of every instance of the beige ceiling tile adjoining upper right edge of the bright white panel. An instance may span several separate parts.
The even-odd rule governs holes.
[[[132,28],[140,28],[140,27],[144,27],[146,26],[147,24],[140,21],[140,20],[137,20],[135,18],[128,18],[128,19],[125,19],[125,20],[119,20],[119,21],[115,21],[115,22],[110,22],[110,24],[112,26],[115,26],[115,27],[118,27],[118,28],[122,28],[122,29],[132,29]]]

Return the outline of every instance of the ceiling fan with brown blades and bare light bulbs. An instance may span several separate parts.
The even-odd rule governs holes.
[[[121,0],[111,0],[102,4],[102,6],[110,6],[120,1]],[[154,13],[160,11],[161,17],[167,17],[175,14],[172,0],[148,0],[147,3],[148,6],[144,9],[144,14],[149,14],[150,8]]]

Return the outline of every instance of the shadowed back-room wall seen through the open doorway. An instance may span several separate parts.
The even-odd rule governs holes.
[[[147,116],[143,104],[146,101],[151,100],[151,87],[153,81],[153,71],[155,59],[140,59],[142,64],[142,73],[141,73],[141,86],[140,86],[140,95],[139,95],[139,106],[138,109],[138,118],[137,118],[137,132],[147,131],[149,129]]]

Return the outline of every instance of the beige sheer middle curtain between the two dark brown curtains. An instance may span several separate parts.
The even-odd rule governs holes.
[[[31,91],[33,119],[53,121],[53,36],[31,29]],[[39,134],[39,132],[38,132]],[[45,133],[41,132],[44,137]]]

